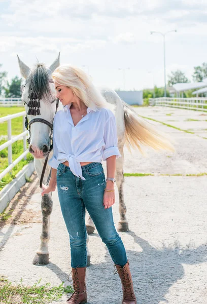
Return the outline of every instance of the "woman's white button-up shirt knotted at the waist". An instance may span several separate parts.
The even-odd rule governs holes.
[[[74,175],[82,176],[80,162],[106,161],[110,156],[121,157],[117,146],[116,120],[110,109],[87,108],[85,115],[74,126],[71,103],[59,110],[53,122],[53,157],[48,164],[57,169],[68,161]]]

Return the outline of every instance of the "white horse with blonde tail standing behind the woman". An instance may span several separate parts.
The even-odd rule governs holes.
[[[28,122],[31,122],[31,120],[37,118],[42,120],[39,122],[36,120],[29,126],[29,152],[34,156],[34,166],[36,168],[38,177],[40,178],[45,157],[48,155],[51,147],[51,127],[48,124],[45,124],[45,122],[47,121],[52,125],[56,112],[56,92],[54,84],[52,83],[52,72],[56,67],[59,66],[59,55],[49,68],[42,63],[38,63],[32,69],[30,69],[19,59],[19,57],[18,61],[21,75],[26,80],[22,92],[22,99],[25,104]],[[29,94],[31,91],[36,92],[40,98],[40,112],[35,113],[31,110],[29,111],[28,103],[30,99]],[[132,146],[133,148],[139,148],[141,151],[141,145],[150,146],[155,150],[165,149],[170,151],[174,150],[174,147],[165,135],[156,131],[151,124],[140,118],[131,106],[119,98],[116,92],[113,90],[102,90],[101,93],[107,102],[113,105],[114,115],[116,118],[118,148],[122,156],[116,160],[115,174],[116,185],[119,193],[120,219],[118,223],[118,231],[125,232],[128,231],[128,220],[126,218],[126,206],[124,203],[123,191],[124,145],[126,144],[129,150],[130,146]],[[59,105],[59,109],[60,108],[62,108],[62,105]],[[50,153],[50,157],[52,157],[52,153]],[[49,172],[50,167],[47,166],[43,183],[46,183]],[[43,226],[40,237],[40,247],[33,259],[33,264],[36,265],[44,265],[49,262],[48,242],[50,239],[50,214],[52,212],[51,195],[46,194],[42,197],[41,207],[43,214]],[[88,233],[93,233],[95,227],[90,217],[87,221],[86,227]],[[88,252],[88,249],[87,255],[89,265],[90,253]]]

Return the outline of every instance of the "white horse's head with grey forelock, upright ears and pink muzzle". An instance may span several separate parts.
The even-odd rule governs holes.
[[[60,64],[59,56],[50,67],[37,63],[30,69],[17,55],[25,79],[22,100],[30,135],[28,149],[37,159],[45,158],[51,148],[52,124],[58,106],[52,73]]]

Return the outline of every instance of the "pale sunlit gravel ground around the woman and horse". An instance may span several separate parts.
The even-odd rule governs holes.
[[[182,125],[178,128],[182,129],[185,129],[187,119],[202,121],[200,128],[203,128],[203,120],[206,119],[200,112],[189,110],[164,107],[135,110],[140,115],[164,123],[169,119],[177,120]],[[172,113],[171,116],[166,115],[168,113]],[[168,123],[177,127],[177,122]],[[191,129],[194,123],[191,122]],[[206,304],[207,207],[204,203],[207,176],[184,175],[207,172],[207,140],[198,137],[197,133],[188,134],[160,123],[153,124],[175,138],[175,154],[155,154],[149,150],[148,158],[143,158],[137,151],[132,151],[130,155],[125,150],[124,172],[154,173],[154,176],[125,178],[130,231],[120,235],[130,262],[137,303]],[[196,130],[199,130],[197,122]],[[14,210],[12,217],[2,224],[0,275],[8,276],[15,284],[21,278],[26,285],[32,285],[39,279],[52,285],[62,281],[71,284],[67,281],[71,271],[70,246],[56,192],[51,216],[50,263],[44,267],[32,265],[41,234],[40,198],[38,179],[34,174],[32,183],[27,183],[10,203],[9,208]],[[113,212],[117,225],[117,189]],[[113,274],[113,262],[97,232],[90,236],[89,250],[88,303],[121,303],[119,277]],[[64,303],[64,300],[59,302]]]

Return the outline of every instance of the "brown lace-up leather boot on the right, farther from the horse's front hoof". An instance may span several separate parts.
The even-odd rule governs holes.
[[[123,268],[116,264],[115,266],[122,283],[122,289],[123,289],[122,304],[136,304],[136,297],[133,291],[133,283],[129,269],[129,262],[127,261],[127,263],[124,265]]]

